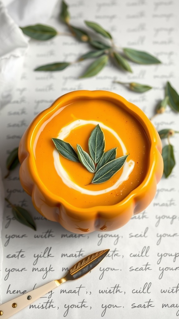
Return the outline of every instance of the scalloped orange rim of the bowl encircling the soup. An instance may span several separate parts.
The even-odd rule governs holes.
[[[67,98],[69,100],[74,99],[108,99],[116,101],[116,104],[122,104],[122,107],[125,107],[128,109],[129,113],[132,114],[142,125],[144,131],[146,132],[147,138],[149,140],[150,144],[150,151],[149,151],[149,159],[148,159],[148,169],[146,176],[143,180],[143,182],[140,183],[138,187],[133,189],[122,201],[118,202],[114,205],[99,205],[99,206],[92,206],[89,208],[79,208],[76,206],[73,206],[72,204],[69,204],[67,201],[65,201],[62,197],[54,195],[52,192],[50,192],[47,187],[44,185],[44,183],[40,180],[37,168],[35,165],[34,154],[33,154],[33,145],[32,145],[32,136],[35,130],[37,130],[37,126],[40,125],[40,121],[43,120],[49,113],[55,112],[56,109],[59,108],[59,105],[61,103],[64,103],[64,99]],[[57,103],[58,101],[58,103]],[[69,103],[68,103],[69,104]],[[67,105],[68,105],[67,104]],[[43,116],[42,116],[43,115]],[[38,121],[40,119],[40,121]],[[37,122],[38,121],[38,122]],[[32,125],[35,122],[37,124],[35,127]],[[95,90],[95,91],[88,91],[88,90],[78,90],[66,93],[62,95],[61,97],[57,98],[49,108],[43,110],[40,112],[31,122],[31,126],[29,128],[28,134],[27,134],[27,141],[26,141],[26,147],[28,151],[28,161],[30,166],[30,174],[32,175],[32,179],[34,183],[38,186],[39,190],[42,192],[42,194],[47,197],[51,202],[57,202],[64,207],[72,210],[74,213],[76,212],[77,215],[93,212],[96,211],[103,211],[103,214],[108,213],[111,208],[117,208],[119,206],[127,204],[127,202],[130,202],[132,199],[135,199],[135,197],[139,197],[140,193],[142,193],[147,188],[147,183],[152,179],[152,174],[154,172],[154,166],[155,166],[155,154],[156,152],[159,152],[158,150],[158,141],[156,138],[157,131],[155,130],[153,124],[148,119],[147,115],[144,114],[144,112],[138,108],[136,105],[132,104],[131,102],[128,102],[125,98],[118,95],[117,93],[112,93],[110,91],[101,91],[101,90]],[[158,133],[157,133],[158,134]],[[116,210],[115,210],[116,211]],[[117,212],[116,212],[117,214]]]

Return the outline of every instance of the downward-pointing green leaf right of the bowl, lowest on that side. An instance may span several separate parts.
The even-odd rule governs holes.
[[[175,157],[174,157],[173,146],[171,144],[165,145],[162,148],[161,155],[162,155],[163,164],[164,164],[163,172],[164,172],[165,177],[168,177],[171,174],[172,169],[175,166]]]

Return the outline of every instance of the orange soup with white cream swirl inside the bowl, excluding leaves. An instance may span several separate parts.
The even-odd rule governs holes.
[[[128,155],[124,166],[108,181],[91,184],[94,173],[81,163],[64,158],[52,138],[60,138],[89,153],[91,131],[99,124],[105,138],[105,150],[117,147],[117,157]],[[48,114],[34,137],[34,160],[40,180],[55,196],[79,208],[114,205],[123,200],[144,180],[150,144],[140,122],[120,103],[81,98],[61,103]]]

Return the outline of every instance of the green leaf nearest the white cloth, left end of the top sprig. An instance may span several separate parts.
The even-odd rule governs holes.
[[[47,41],[49,39],[52,39],[55,35],[57,35],[57,31],[54,28],[43,24],[25,26],[21,27],[20,29],[24,34],[28,35],[29,37],[41,41]]]

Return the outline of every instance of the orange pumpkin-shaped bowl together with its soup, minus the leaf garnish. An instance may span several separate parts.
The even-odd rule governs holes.
[[[89,137],[98,124],[104,152],[116,148],[117,158],[129,155],[108,181],[93,184],[94,174],[63,157],[52,138],[89,153]],[[25,131],[19,160],[21,184],[37,211],[79,234],[125,225],[151,203],[163,173],[153,124],[140,108],[107,91],[75,91],[55,100]]]

